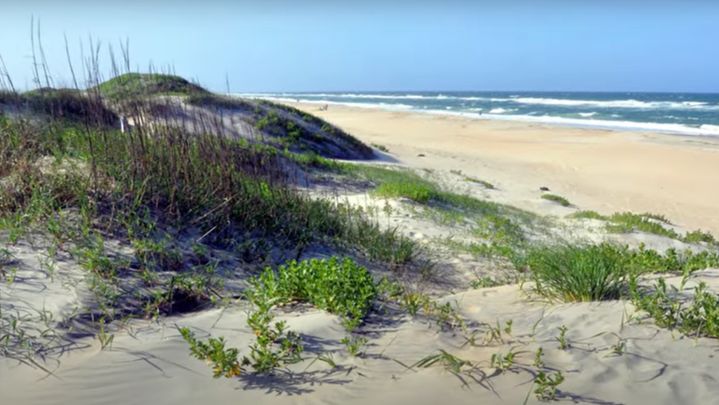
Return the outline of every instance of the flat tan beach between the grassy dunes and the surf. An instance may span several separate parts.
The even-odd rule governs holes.
[[[663,214],[688,230],[719,234],[719,140],[651,132],[479,120],[455,115],[281,104],[316,114],[400,164],[455,168],[516,192],[531,209],[539,187],[577,209]],[[328,103],[329,104],[329,103]],[[441,136],[438,136],[441,134]],[[418,155],[425,157],[418,157]]]

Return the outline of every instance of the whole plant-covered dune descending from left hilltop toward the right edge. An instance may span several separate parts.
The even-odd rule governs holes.
[[[277,306],[290,303],[340,317],[342,343],[352,356],[367,351],[362,328],[390,313],[429,319],[440,333],[461,335],[472,345],[480,345],[478,332],[485,343],[503,342],[511,321],[470,332],[459,308],[436,299],[439,290],[431,287],[441,278],[446,251],[489,260],[482,263],[511,275],[477,278],[465,290],[526,283],[529,296],[551,302],[625,300],[660,327],[719,337],[719,298],[705,286],[686,304],[664,278],[651,288],[641,285],[651,274],[678,273],[686,283],[700,270],[719,267],[711,235],[679,235],[661,225],[664,218],[573,216],[605,221],[608,232],[649,232],[700,243],[702,250],[557,242],[544,232],[551,220],[538,214],[460,194],[413,170],[332,160],[370,159],[372,149],[318,117],[212,94],[176,76],[126,73],[88,91],[5,91],[0,107],[12,112],[0,115],[0,277],[12,285],[33,263],[49,278],[72,267],[81,280],[73,288],[86,292],[78,294],[82,311],[60,324],[46,322],[52,327],[40,332],[0,306],[0,353],[6,358],[42,367],[43,355],[78,334],[109,348],[133,319],[244,305],[246,326],[256,337],[244,350],[249,354],[240,355],[222,337],[180,332],[189,352],[211,364],[216,377],[273,373],[308,360],[302,337],[274,322]],[[119,130],[120,114],[134,118],[129,131]],[[223,114],[246,125],[218,124]],[[237,133],[222,132],[229,127]],[[401,211],[466,238],[426,245],[385,226],[376,205],[307,192],[328,181],[388,201],[388,218]],[[486,181],[461,181],[493,188]],[[557,196],[542,198],[569,205]],[[557,337],[560,345],[565,332]],[[513,368],[512,355],[473,364],[449,350],[407,367],[435,365],[454,373]],[[337,366],[322,353],[317,359]],[[534,376],[538,399],[554,399],[564,376],[542,364],[537,360],[522,370]]]

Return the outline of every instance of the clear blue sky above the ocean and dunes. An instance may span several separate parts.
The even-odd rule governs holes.
[[[30,17],[56,85],[80,42],[132,68],[224,91],[719,92],[719,1],[24,0],[0,9],[0,55],[32,85]],[[713,4],[715,3],[715,4]]]

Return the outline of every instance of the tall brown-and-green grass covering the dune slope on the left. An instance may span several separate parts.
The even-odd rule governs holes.
[[[346,165],[211,131],[191,133],[182,125],[146,127],[132,115],[137,109],[129,109],[136,122],[131,131],[114,125],[117,116],[109,106],[116,99],[139,106],[162,94],[195,97],[198,104],[219,99],[172,76],[134,73],[88,92],[2,94],[4,103],[32,101],[42,109],[26,109],[20,117],[0,114],[0,240],[17,245],[42,235],[37,248],[47,250],[48,268],[59,254],[75,262],[91,292],[83,302],[87,311],[78,317],[107,345],[111,322],[225,302],[233,292],[224,290],[224,266],[236,264],[214,260],[208,252],[215,249],[234,253],[247,268],[298,260],[319,248],[386,270],[425,266],[424,248],[398,229],[299,190],[299,179],[307,176],[303,163],[338,170]],[[269,114],[275,106],[262,108]],[[167,109],[157,111],[161,116]],[[213,128],[205,116],[194,118]],[[321,122],[308,114],[303,119]],[[352,140],[344,145],[371,151],[342,136]],[[118,243],[132,247],[132,254],[116,250]],[[1,270],[12,281],[12,270]],[[3,314],[3,352],[22,355],[29,337],[12,332],[11,324]],[[360,343],[359,337],[348,340],[354,350]]]

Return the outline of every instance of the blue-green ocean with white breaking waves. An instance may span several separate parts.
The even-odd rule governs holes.
[[[252,93],[237,96],[475,119],[719,137],[719,94],[533,91]]]

